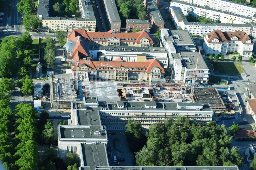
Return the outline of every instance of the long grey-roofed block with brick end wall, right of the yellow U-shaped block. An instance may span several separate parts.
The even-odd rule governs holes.
[[[110,30],[120,32],[121,19],[115,4],[115,0],[103,0]]]

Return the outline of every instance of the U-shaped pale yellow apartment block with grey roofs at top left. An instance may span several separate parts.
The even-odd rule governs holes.
[[[49,17],[49,1],[38,0],[38,18],[41,20],[42,29],[49,31],[71,31],[73,29],[84,29],[88,32],[95,32],[96,19],[94,16],[91,1],[79,1],[82,9],[81,18]]]

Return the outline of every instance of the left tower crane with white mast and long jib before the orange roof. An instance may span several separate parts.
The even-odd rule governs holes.
[[[74,62],[77,65],[77,70],[76,70],[76,90],[78,89],[78,76],[79,76],[79,61],[75,61],[73,59],[65,59],[62,58],[61,61],[70,61],[70,62]],[[120,67],[120,66],[115,66],[115,65],[110,65],[110,64],[104,64],[104,63],[98,63],[98,62],[92,62],[90,60],[84,60],[84,64],[94,64],[94,65],[100,65],[100,66],[104,66],[104,67],[111,67],[111,68],[120,68],[120,69],[124,69],[124,70],[135,70],[133,68],[128,68],[128,67]]]

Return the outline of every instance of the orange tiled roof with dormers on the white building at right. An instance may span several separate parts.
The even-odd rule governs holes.
[[[214,30],[205,35],[206,40],[208,43],[222,43],[222,42],[229,42],[229,41],[241,41],[243,44],[253,44],[250,37],[247,33],[242,31],[235,31],[235,32],[222,32],[221,30]],[[237,38],[236,40],[232,40],[232,38]],[[213,40],[218,40],[218,42]],[[250,42],[246,42],[250,41]]]

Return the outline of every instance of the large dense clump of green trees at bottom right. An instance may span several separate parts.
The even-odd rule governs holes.
[[[223,166],[243,164],[225,125],[190,124],[185,117],[168,118],[151,125],[146,145],[136,153],[139,166]]]

